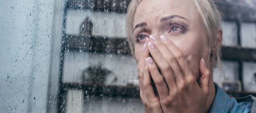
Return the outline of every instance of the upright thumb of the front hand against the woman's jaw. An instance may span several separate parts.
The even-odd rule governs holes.
[[[206,94],[208,94],[211,75],[210,75],[210,71],[207,69],[205,60],[203,58],[199,61],[199,70],[200,70],[201,76],[199,78],[198,85],[204,90]]]

